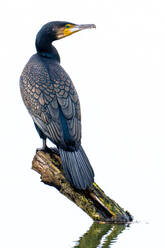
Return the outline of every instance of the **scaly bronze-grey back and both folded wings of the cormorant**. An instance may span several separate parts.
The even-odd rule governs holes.
[[[22,97],[34,122],[55,144],[66,146],[60,112],[71,141],[80,143],[81,117],[76,90],[62,67],[34,55],[20,80]],[[44,63],[43,63],[44,62]]]

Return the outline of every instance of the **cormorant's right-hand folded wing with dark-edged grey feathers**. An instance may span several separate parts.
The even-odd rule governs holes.
[[[76,89],[64,69],[59,65],[49,64],[50,79],[56,91],[56,97],[68,126],[72,141],[81,140],[81,111]]]

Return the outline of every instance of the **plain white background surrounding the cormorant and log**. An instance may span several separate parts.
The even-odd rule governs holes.
[[[92,224],[30,169],[41,140],[19,92],[36,33],[67,20],[97,26],[54,43],[80,97],[82,144],[96,182],[149,223],[133,226],[114,247],[163,247],[164,1],[6,0],[0,12],[0,246],[72,247]]]

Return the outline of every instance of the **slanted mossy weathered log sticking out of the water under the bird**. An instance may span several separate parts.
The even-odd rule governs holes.
[[[60,156],[53,149],[49,152],[37,151],[32,162],[32,169],[41,175],[42,182],[54,186],[94,221],[109,223],[132,221],[132,216],[106,196],[96,183],[93,183],[88,190],[73,188],[64,176]]]

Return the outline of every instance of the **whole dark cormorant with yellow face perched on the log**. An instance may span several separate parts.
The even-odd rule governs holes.
[[[20,77],[23,101],[43,139],[58,148],[64,173],[77,189],[86,189],[94,182],[94,172],[81,146],[80,103],[75,87],[60,65],[60,56],[52,42],[94,24],[49,22],[36,36],[36,50]]]

